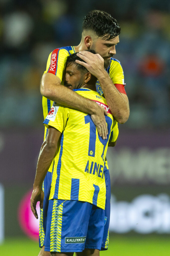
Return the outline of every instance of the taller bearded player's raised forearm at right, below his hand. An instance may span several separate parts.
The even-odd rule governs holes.
[[[104,71],[98,77],[108,107],[118,123],[125,123],[129,117],[129,103],[116,89],[108,73]],[[127,97],[126,97],[127,98]]]

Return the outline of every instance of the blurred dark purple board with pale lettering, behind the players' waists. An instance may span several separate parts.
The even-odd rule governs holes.
[[[42,142],[43,127],[42,130],[1,132],[0,181],[3,185],[33,183]],[[168,131],[123,133],[120,130],[116,146],[107,152],[111,182],[170,184],[169,156]]]

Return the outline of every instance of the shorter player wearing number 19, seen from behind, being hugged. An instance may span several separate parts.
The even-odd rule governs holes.
[[[96,78],[76,59],[76,54],[67,58],[65,86],[107,110],[107,139],[98,135],[90,115],[54,102],[44,120],[48,132],[39,155],[31,209],[38,217],[36,203],[40,200],[42,207],[42,183],[52,164],[45,251],[98,256],[105,223],[104,159],[111,133],[112,141],[117,140],[118,126],[105,99],[98,98]],[[49,142],[53,145],[50,149],[46,147]]]

